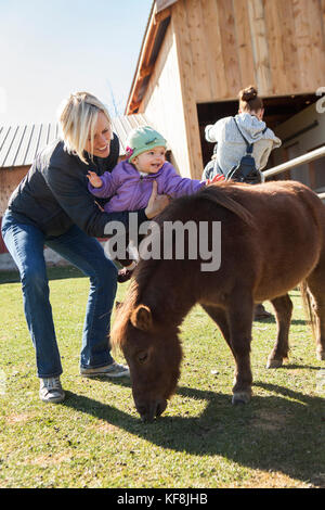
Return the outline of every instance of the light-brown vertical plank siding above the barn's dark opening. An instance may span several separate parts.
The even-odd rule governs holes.
[[[323,0],[179,0],[172,16],[188,35],[197,103],[236,98],[250,82],[264,97],[324,85]]]

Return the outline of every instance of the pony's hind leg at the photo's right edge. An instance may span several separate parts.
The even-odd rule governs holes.
[[[318,268],[320,269],[320,268]],[[316,356],[325,360],[325,277],[313,271],[307,279],[308,289],[313,296],[312,311],[315,316]],[[323,277],[323,280],[322,280]],[[313,320],[313,319],[312,319]]]

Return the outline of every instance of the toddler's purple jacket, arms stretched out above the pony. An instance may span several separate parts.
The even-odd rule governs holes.
[[[112,196],[104,205],[106,213],[145,208],[153,191],[154,180],[158,184],[158,194],[168,194],[172,199],[195,193],[206,183],[205,180],[179,176],[170,163],[164,163],[157,174],[142,176],[127,160],[118,163],[112,173],[105,171],[101,179],[103,182],[101,188],[93,188],[89,182],[88,189],[99,199]]]

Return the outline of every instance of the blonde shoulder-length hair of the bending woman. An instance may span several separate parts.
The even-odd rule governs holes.
[[[65,149],[76,154],[88,164],[84,157],[84,148],[90,137],[90,153],[93,153],[94,129],[99,113],[102,112],[110,126],[110,117],[104,104],[88,92],[74,92],[65,100],[58,112],[62,138]]]

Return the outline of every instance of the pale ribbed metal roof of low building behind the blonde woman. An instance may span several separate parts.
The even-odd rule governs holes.
[[[120,155],[126,153],[126,139],[131,129],[150,124],[145,115],[126,115],[112,119],[120,141]],[[29,166],[48,143],[58,137],[58,124],[0,126],[0,168]]]

